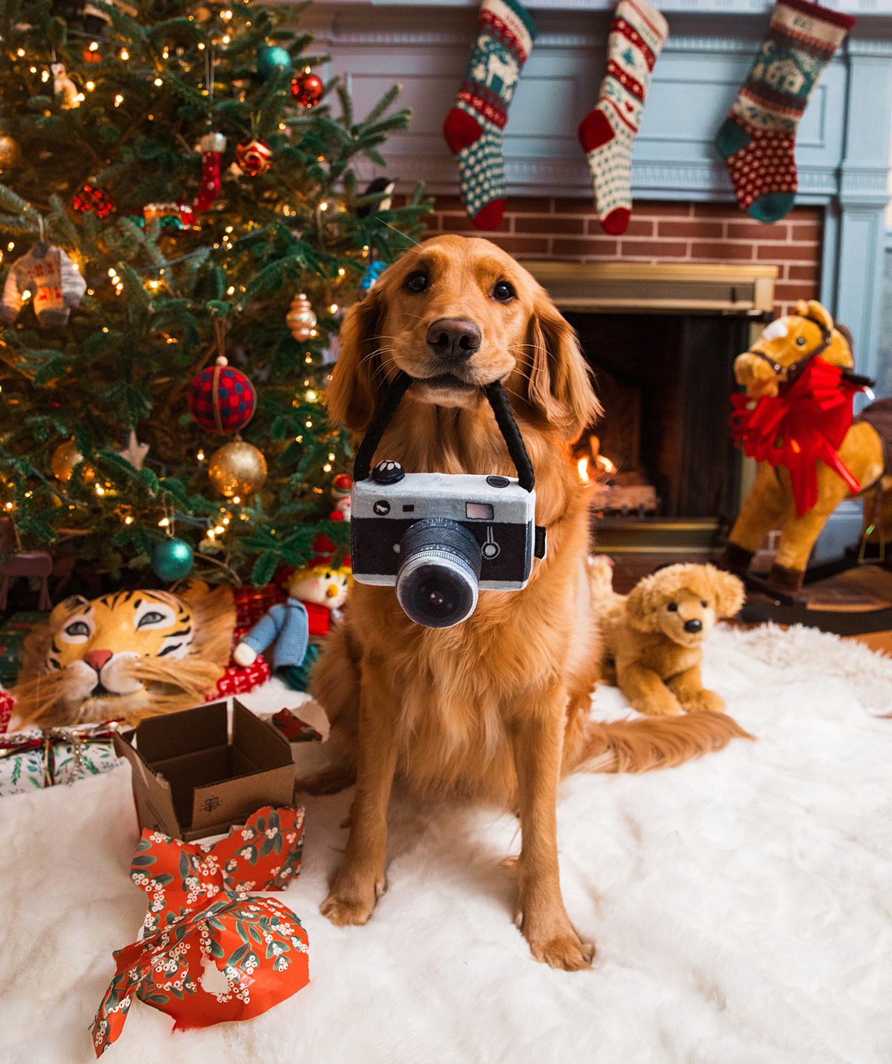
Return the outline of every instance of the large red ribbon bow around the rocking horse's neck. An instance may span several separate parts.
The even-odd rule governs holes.
[[[747,458],[786,466],[798,517],[818,501],[819,459],[853,493],[861,489],[837,451],[852,428],[853,398],[862,390],[861,385],[843,380],[841,366],[818,355],[777,396],[762,396],[758,401],[731,396],[731,436]]]

